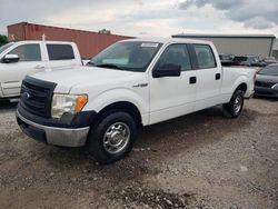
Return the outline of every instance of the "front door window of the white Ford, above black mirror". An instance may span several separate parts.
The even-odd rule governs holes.
[[[163,64],[178,64],[181,71],[191,70],[190,57],[186,44],[170,44],[160,56],[156,68]]]

